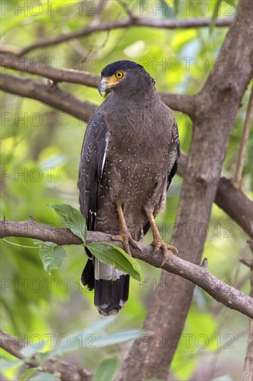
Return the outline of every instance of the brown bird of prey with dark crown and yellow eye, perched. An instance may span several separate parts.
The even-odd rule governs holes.
[[[158,96],[155,81],[131,61],[113,62],[98,87],[106,98],[86,127],[79,166],[79,203],[89,231],[109,233],[125,251],[151,227],[152,245],[163,242],[154,218],[165,209],[167,189],[178,168],[178,127]],[[81,283],[95,288],[100,314],[116,314],[127,303],[129,274],[104,265],[86,251]]]

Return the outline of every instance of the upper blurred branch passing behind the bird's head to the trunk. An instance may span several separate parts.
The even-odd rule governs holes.
[[[40,62],[38,59],[30,60],[28,57],[10,57],[6,55],[0,55],[0,66],[6,67],[8,69],[22,71],[24,73],[42,76],[53,80],[54,82],[71,82],[90,87],[97,87],[101,80],[100,76],[94,76],[93,74],[85,73],[84,71],[75,69],[57,69],[56,67],[50,67],[46,64],[42,64],[42,62]],[[15,82],[15,80],[17,80],[17,78],[13,78],[12,82]],[[6,87],[5,91],[8,91],[8,87]],[[19,89],[17,89],[17,91],[19,91]],[[165,105],[168,105],[171,107],[171,109],[185,112],[185,114],[189,114],[190,116],[194,115],[197,105],[196,96],[171,94],[165,91],[161,91],[159,95]]]

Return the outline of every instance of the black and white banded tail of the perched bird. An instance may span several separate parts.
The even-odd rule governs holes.
[[[100,314],[117,314],[129,297],[129,274],[104,265],[97,258],[89,258],[82,272],[81,284],[95,289],[94,304]]]

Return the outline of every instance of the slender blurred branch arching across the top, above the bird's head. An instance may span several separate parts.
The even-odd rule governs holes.
[[[216,20],[216,26],[229,26],[232,22],[232,17],[218,17]],[[75,30],[71,33],[66,33],[62,35],[57,35],[56,37],[48,39],[40,39],[33,44],[21,48],[18,55],[25,55],[30,51],[42,48],[44,46],[53,46],[61,44],[62,42],[69,41],[70,39],[77,37],[85,37],[91,33],[102,31],[102,30],[113,30],[129,28],[129,26],[148,26],[150,28],[165,28],[165,29],[178,29],[178,28],[200,28],[203,26],[209,26],[211,22],[210,17],[199,17],[193,19],[155,19],[146,17],[131,17],[127,19],[120,19],[115,21],[93,21],[93,23],[85,26],[82,29]]]

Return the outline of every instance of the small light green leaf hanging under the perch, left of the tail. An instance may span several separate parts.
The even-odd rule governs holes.
[[[44,265],[44,270],[51,275],[51,270],[59,269],[62,266],[66,251],[61,246],[41,245],[39,247],[39,257]]]

